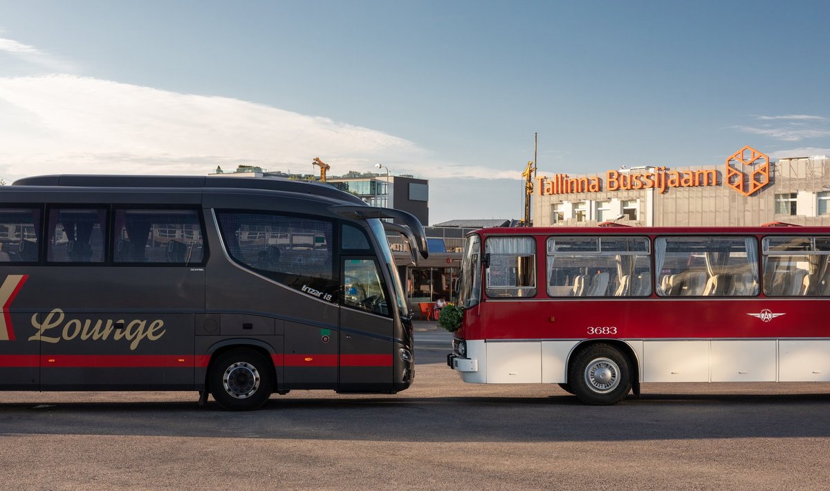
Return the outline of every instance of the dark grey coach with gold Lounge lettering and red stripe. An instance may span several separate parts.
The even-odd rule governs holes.
[[[427,257],[417,218],[320,183],[0,187],[0,389],[209,391],[229,410],[292,389],[403,391],[413,328],[388,228]]]

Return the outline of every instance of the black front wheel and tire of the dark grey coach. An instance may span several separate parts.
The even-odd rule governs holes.
[[[252,411],[274,391],[274,366],[260,352],[247,348],[224,352],[211,364],[207,386],[227,411]]]

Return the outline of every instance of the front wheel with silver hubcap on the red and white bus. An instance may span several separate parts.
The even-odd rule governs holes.
[[[571,363],[568,381],[574,395],[585,404],[617,404],[631,391],[628,358],[608,344],[594,344]]]

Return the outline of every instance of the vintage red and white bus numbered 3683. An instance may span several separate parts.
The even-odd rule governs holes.
[[[830,228],[466,236],[448,364],[614,404],[642,382],[830,382]]]

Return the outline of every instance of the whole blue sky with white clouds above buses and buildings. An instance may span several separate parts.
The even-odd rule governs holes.
[[[830,153],[830,2],[0,0],[0,177],[254,163],[430,179],[518,218],[540,173]]]

